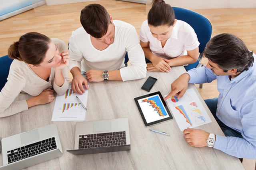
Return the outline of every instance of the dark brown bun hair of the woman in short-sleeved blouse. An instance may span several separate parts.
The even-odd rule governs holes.
[[[152,26],[172,26],[175,20],[174,10],[164,0],[153,0],[148,12],[148,24]]]

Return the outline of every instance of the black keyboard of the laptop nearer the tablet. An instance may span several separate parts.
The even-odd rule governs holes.
[[[122,145],[126,145],[125,131],[79,135],[79,149],[102,148]]]

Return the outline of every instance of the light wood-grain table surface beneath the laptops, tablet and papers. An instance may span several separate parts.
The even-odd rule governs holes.
[[[183,67],[173,67],[169,73],[148,72],[148,76],[157,78],[151,92],[160,91],[162,96],[171,90],[171,83],[184,73]],[[56,124],[60,136],[63,155],[54,160],[43,162],[26,170],[244,170],[238,158],[219,150],[189,146],[184,139],[175,119],[145,127],[134,98],[148,94],[141,89],[146,78],[127,82],[108,81],[90,83],[86,111],[86,121],[128,118],[130,127],[131,150],[101,154],[74,156],[66,150],[74,148],[75,121],[52,122],[54,102],[34,106],[27,111],[0,118],[0,137],[5,138]],[[206,112],[212,122],[198,128],[214,134],[223,135],[210,110],[204,103],[193,84]],[[17,100],[31,96],[21,94]],[[149,129],[167,132],[171,136],[151,132]],[[2,154],[0,165],[2,165]]]

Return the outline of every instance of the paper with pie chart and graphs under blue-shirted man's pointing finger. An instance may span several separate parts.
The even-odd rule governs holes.
[[[172,96],[166,102],[181,131],[212,122],[193,88],[188,89],[180,100]]]

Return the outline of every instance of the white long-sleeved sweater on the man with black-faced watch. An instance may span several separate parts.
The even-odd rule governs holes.
[[[72,32],[69,40],[70,64],[68,68],[80,70],[119,70],[123,81],[146,77],[146,62],[137,32],[131,24],[119,20],[115,25],[114,43],[104,50],[97,50],[90,34],[83,27]],[[124,56],[128,52],[131,66],[124,67]],[[82,64],[82,69],[81,69]]]

